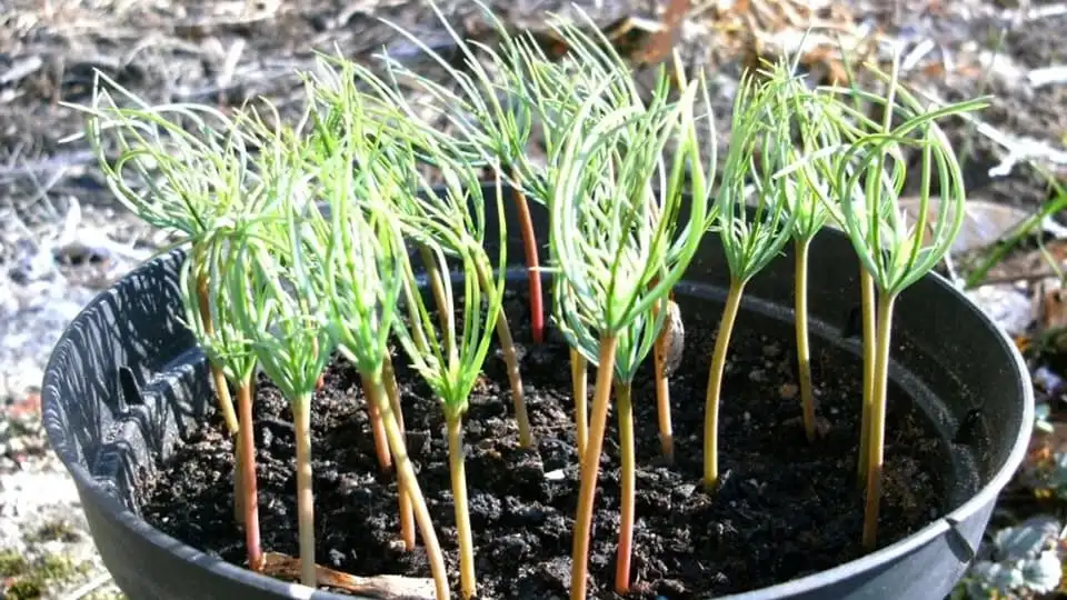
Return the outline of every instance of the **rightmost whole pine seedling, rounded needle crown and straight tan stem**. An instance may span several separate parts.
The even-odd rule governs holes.
[[[881,497],[881,468],[886,426],[886,392],[888,387],[889,353],[894,304],[899,294],[926,276],[951,249],[965,216],[963,172],[947,136],[936,120],[987,106],[985,99],[975,99],[940,108],[925,108],[915,96],[900,86],[899,56],[894,56],[893,68],[886,73],[875,66],[870,71],[888,86],[885,97],[851,88],[825,88],[841,97],[859,97],[884,109],[881,123],[841,102],[842,111],[858,126],[842,129],[857,134],[839,154],[836,179],[837,194],[849,198],[857,186],[862,186],[862,202],[842,202],[845,230],[852,241],[864,268],[877,288],[877,328],[872,397],[866,456],[866,507],[864,513],[864,548],[876,548],[878,513]],[[904,122],[891,127],[894,117]],[[919,207],[911,222],[898,203],[907,178],[907,164],[900,149],[914,148],[920,156]],[[938,178],[940,201],[937,217],[929,210],[931,182]],[[889,177],[887,181],[887,169]],[[888,183],[888,184],[887,184]]]

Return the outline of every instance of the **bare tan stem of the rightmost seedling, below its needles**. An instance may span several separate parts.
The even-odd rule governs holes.
[[[889,387],[889,349],[895,300],[895,294],[885,292],[878,298],[878,344],[870,411],[870,440],[867,450],[867,503],[864,510],[864,548],[868,552],[875,549],[878,534],[882,453],[886,440],[886,392]]]

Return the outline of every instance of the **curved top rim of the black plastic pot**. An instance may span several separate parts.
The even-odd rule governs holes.
[[[830,234],[834,236],[844,236],[840,231],[831,230]],[[122,279],[136,276],[138,272],[148,271],[158,266],[161,262],[167,260],[174,260],[177,254],[185,253],[185,246],[179,248],[173,248],[170,251],[159,254],[141,266],[137,267],[130,273],[128,273]],[[995,340],[1000,346],[1000,350],[1006,358],[1010,358],[1010,364],[1015,368],[1017,373],[1019,390],[1018,398],[1023,402],[1023,427],[1019,428],[1018,433],[1016,434],[1015,441],[1013,442],[1011,450],[1007,456],[1007,459],[1000,464],[997,472],[994,474],[989,481],[983,486],[974,496],[971,496],[966,502],[960,504],[955,510],[950,511],[947,514],[938,517],[936,520],[930,521],[926,527],[916,531],[911,536],[903,538],[885,548],[876,550],[869,554],[866,554],[861,558],[838,564],[831,569],[811,573],[801,578],[794,580],[785,581],[781,583],[776,583],[766,588],[760,588],[757,590],[750,590],[746,592],[740,592],[731,596],[719,597],[728,600],[765,600],[771,598],[788,598],[795,594],[811,592],[819,588],[827,587],[836,581],[845,580],[851,577],[852,574],[866,570],[872,570],[878,564],[893,562],[896,558],[901,557],[917,547],[921,547],[929,541],[948,533],[954,530],[958,523],[967,521],[969,517],[980,509],[987,507],[991,502],[995,502],[996,497],[1000,491],[1007,486],[1007,483],[1015,476],[1016,470],[1021,464],[1026,451],[1029,444],[1030,439],[1030,429],[1027,427],[1028,423],[1034,421],[1034,389],[1029,374],[1029,369],[1026,367],[1026,363],[1018,351],[1018,348],[1011,340],[1008,338],[1007,333],[999,328],[993,320],[979,309],[970,299],[968,299],[963,292],[960,292],[955,286],[953,286],[948,280],[936,272],[931,272],[927,276],[928,279],[933,279],[933,282],[940,287],[944,291],[948,292],[956,300],[959,301],[959,309],[970,311],[975,317],[983,322],[990,332],[994,333]],[[121,280],[114,286],[120,284]],[[111,289],[101,292],[97,298],[90,301],[82,311],[93,310],[102,300],[102,297],[112,293]],[[80,317],[80,313],[79,313]],[[79,317],[76,317],[77,320]],[[69,329],[63,332],[60,337],[57,347],[60,343],[63,343],[68,339]],[[56,451],[57,456],[63,462],[63,466],[70,472],[71,477],[74,479],[74,482],[78,486],[80,496],[88,496],[90,501],[99,506],[101,509],[109,512],[114,520],[120,523],[122,527],[128,528],[130,531],[136,532],[138,536],[147,539],[153,546],[160,550],[164,550],[176,554],[186,562],[200,564],[206,568],[212,574],[218,577],[236,580],[243,582],[248,586],[251,586],[257,589],[266,590],[272,593],[283,594],[288,598],[295,599],[310,599],[312,598],[322,598],[322,599],[348,599],[351,600],[356,598],[357,600],[369,600],[363,597],[352,597],[352,596],[341,596],[333,592],[326,592],[320,590],[313,590],[300,583],[288,583],[279,579],[268,577],[251,570],[248,570],[243,567],[230,563],[223,559],[211,557],[192,546],[186,543],[182,540],[173,538],[172,536],[164,533],[163,531],[156,529],[150,526],[147,521],[138,518],[132,511],[122,506],[118,499],[110,496],[102,486],[100,486],[89,472],[89,470],[78,463],[76,457],[72,456],[64,442],[69,436],[67,431],[60,427],[58,422],[52,419],[48,419],[49,411],[48,406],[53,402],[58,402],[53,398],[53,392],[50,390],[56,388],[54,381],[59,378],[57,370],[53,366],[56,356],[49,358],[48,364],[44,369],[44,381],[41,388],[41,408],[42,408],[42,418],[44,419],[44,429],[49,439],[49,444]],[[58,449],[57,449],[58,446]],[[83,500],[84,503],[84,500]]]

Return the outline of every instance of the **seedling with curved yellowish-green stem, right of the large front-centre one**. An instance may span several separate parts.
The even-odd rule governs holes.
[[[785,70],[775,70],[765,80],[746,72],[734,103],[729,150],[716,196],[719,240],[730,270],[730,287],[708,376],[704,422],[704,486],[708,490],[719,482],[719,394],[745,286],[778,256],[792,233],[795,214],[788,209],[791,190],[775,181],[775,171],[786,167],[790,158],[789,114],[780,102],[789,92],[789,83]],[[749,176],[756,186],[751,217],[745,201]]]

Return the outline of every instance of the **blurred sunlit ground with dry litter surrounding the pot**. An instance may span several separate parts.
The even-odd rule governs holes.
[[[993,94],[976,120],[948,122],[968,180],[967,229],[954,254],[960,286],[1027,350],[1041,402],[1031,460],[1006,492],[976,581],[1016,598],[1059,586],[1067,498],[1067,377],[1050,334],[1067,324],[1060,264],[1067,236],[1067,2],[997,0],[692,0],[675,34],[655,38],[670,0],[579,0],[635,59],[654,40],[707,69],[718,126],[754,54],[800,52],[818,79],[840,69],[838,34],[858,54],[904,54],[903,79],[930,100]],[[460,32],[491,43],[478,7],[440,0]],[[509,28],[546,33],[561,0],[496,0]],[[89,100],[94,70],[148,102],[222,109],[257,97],[298,110],[298,73],[316,51],[369,60],[382,48],[440,70],[383,26],[389,19],[438,51],[450,39],[423,0],[0,0],[0,593],[4,598],[110,598],[73,484],[39,426],[39,386],[52,346],[98,291],[166,244],[108,191],[63,103]],[[825,28],[800,41],[809,26]],[[724,136],[725,138],[725,136]],[[987,260],[994,256],[997,260]],[[1063,346],[1063,348],[1060,348]],[[1067,426],[1059,428],[1067,430]],[[1027,519],[1029,519],[1027,521]],[[1039,520],[1035,520],[1039,519]],[[999,532],[999,537],[997,537]],[[1053,566],[1055,564],[1055,569]],[[1037,574],[1035,574],[1037,573]],[[981,597],[978,586],[961,592]]]

